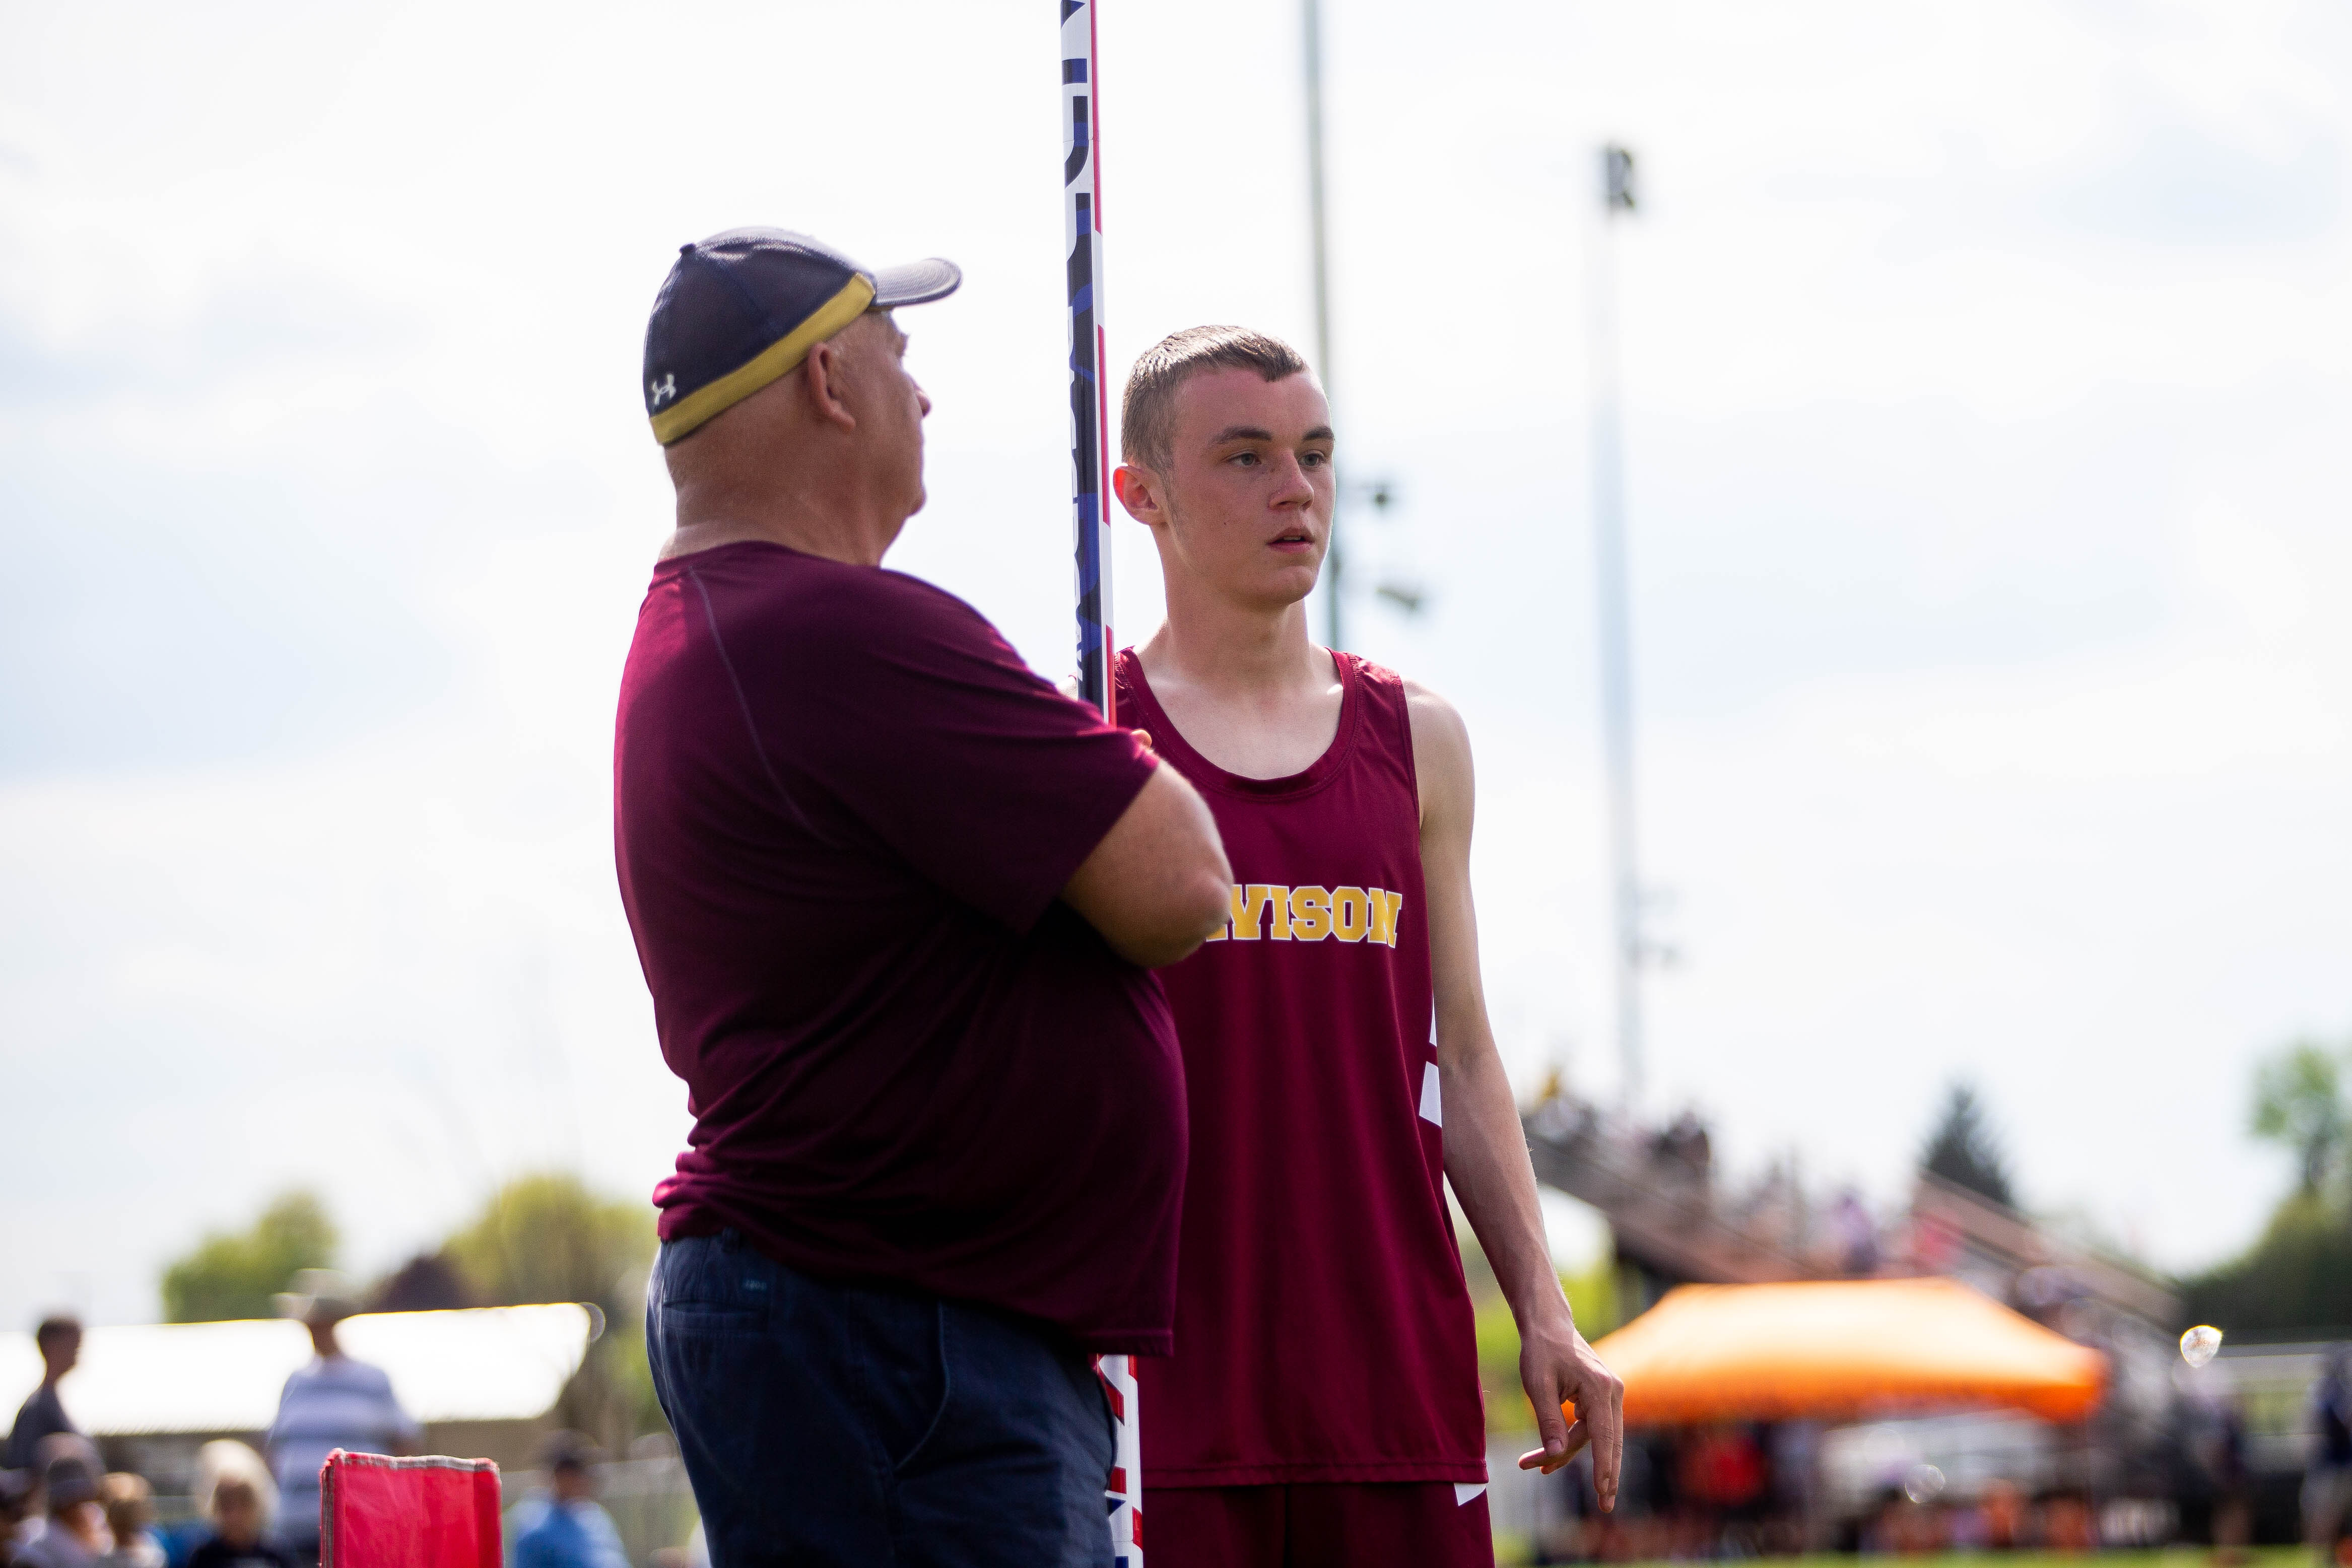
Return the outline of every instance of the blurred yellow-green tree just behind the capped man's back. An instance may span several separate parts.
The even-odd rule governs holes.
[[[647,1204],[597,1197],[576,1175],[539,1173],[499,1187],[440,1255],[475,1300],[586,1302],[604,1314],[604,1335],[588,1347],[555,1413],[619,1450],[661,1427],[644,1359],[644,1274],[654,1246]]]

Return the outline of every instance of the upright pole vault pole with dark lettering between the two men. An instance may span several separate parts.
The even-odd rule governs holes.
[[[1077,691],[1117,724],[1110,661],[1110,388],[1103,353],[1103,115],[1094,0],[1061,5],[1061,235],[1070,273],[1070,512],[1077,529]],[[1110,1556],[1143,1568],[1143,1443],[1131,1356],[1096,1356],[1117,1453],[1110,1486]]]

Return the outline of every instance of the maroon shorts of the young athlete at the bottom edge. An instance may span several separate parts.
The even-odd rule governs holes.
[[[1494,1568],[1486,1488],[1155,1486],[1143,1493],[1150,1568]]]

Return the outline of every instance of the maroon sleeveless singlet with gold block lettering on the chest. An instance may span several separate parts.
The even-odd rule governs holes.
[[[1192,1114],[1176,1354],[1138,1363],[1145,1486],[1484,1481],[1444,1201],[1404,682],[1352,654],[1305,773],[1195,752],[1120,654],[1120,719],[1209,802],[1232,924],[1160,971]]]

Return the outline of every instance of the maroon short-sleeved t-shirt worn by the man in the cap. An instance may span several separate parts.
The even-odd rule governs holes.
[[[1056,898],[1152,766],[929,583],[767,543],[656,567],[614,837],[694,1112],[661,1234],[1167,1354],[1174,1025]]]

